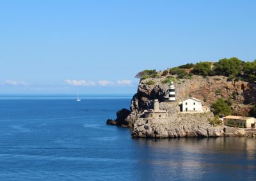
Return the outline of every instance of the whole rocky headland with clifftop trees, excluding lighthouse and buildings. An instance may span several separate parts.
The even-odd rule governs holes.
[[[193,97],[200,99],[202,105],[212,107],[221,99],[229,109],[228,114],[255,116],[255,70],[256,61],[243,62],[232,58],[219,62],[186,64],[163,72],[141,71],[136,75],[140,83],[131,100],[130,110],[120,110],[116,113],[116,120],[108,120],[107,124],[133,127],[134,137],[252,136],[256,133],[244,132],[239,128],[214,127],[216,125],[209,122],[216,116],[212,112],[181,115],[179,103]],[[172,81],[176,102],[170,105],[165,102]],[[168,110],[167,119],[143,117],[144,110],[153,108],[154,99],[159,100],[161,110]]]

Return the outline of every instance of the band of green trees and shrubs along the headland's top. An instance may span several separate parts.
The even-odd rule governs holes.
[[[189,69],[192,69],[189,73]],[[163,71],[163,76],[167,75],[177,75],[180,79],[189,79],[192,75],[201,75],[205,78],[207,76],[223,75],[227,76],[228,81],[239,81],[243,80],[246,82],[256,82],[256,60],[253,62],[244,62],[236,57],[230,59],[220,59],[220,61],[215,62],[213,65],[211,62],[197,62],[196,64],[184,64],[179,67],[174,67]],[[144,70],[139,72],[136,78],[141,80],[147,78],[161,78],[161,75],[153,70]],[[216,80],[220,80],[216,78]]]

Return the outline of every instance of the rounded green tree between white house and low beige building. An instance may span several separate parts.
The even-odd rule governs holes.
[[[212,112],[214,115],[230,115],[231,114],[231,108],[228,106],[228,104],[221,98],[218,98],[215,103],[212,103]]]

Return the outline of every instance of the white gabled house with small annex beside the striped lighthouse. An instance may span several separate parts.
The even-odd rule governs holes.
[[[182,101],[182,112],[209,112],[210,108],[202,106],[202,101],[196,98],[188,98]]]

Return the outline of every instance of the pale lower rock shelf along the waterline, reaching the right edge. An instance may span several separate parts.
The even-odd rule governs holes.
[[[237,127],[213,127],[208,118],[212,113],[184,115],[177,114],[170,119],[136,120],[132,137],[140,138],[179,138],[179,137],[255,137],[256,129]]]

